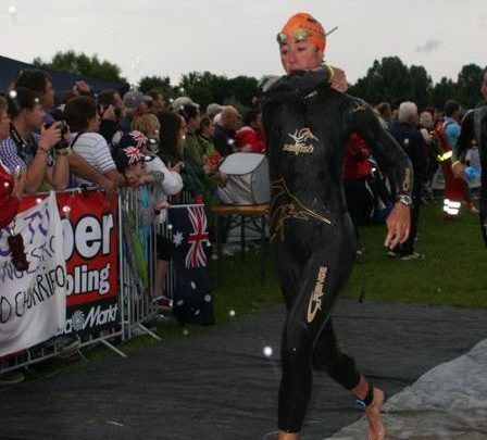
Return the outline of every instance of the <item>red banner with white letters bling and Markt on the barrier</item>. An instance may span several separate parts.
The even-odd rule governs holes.
[[[36,203],[25,198],[21,210]],[[66,257],[65,332],[93,332],[118,320],[118,198],[100,191],[57,194]]]

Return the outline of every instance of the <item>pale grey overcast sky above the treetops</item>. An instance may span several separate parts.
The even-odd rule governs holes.
[[[354,83],[398,55],[433,79],[487,65],[486,0],[0,0],[0,54],[30,62],[74,49],[120,65],[130,83],[190,71],[282,74],[275,36],[295,12],[338,30],[326,59]]]

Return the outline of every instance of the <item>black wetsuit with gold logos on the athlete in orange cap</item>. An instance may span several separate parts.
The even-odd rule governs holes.
[[[329,315],[355,259],[342,186],[352,131],[370,146],[398,194],[411,193],[412,167],[363,101],[329,87],[323,71],[282,77],[267,87],[263,123],[272,180],[271,240],[288,316],[282,342],[278,427],[298,432],[312,367],[353,389],[354,361],[342,353]]]

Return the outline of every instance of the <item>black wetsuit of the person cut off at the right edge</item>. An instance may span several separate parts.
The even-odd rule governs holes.
[[[453,148],[452,160],[463,159],[466,150],[475,140],[480,156],[480,227],[484,243],[487,247],[487,105],[466,113],[462,122],[457,146]]]

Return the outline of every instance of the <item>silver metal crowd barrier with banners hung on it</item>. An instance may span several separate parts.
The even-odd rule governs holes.
[[[103,330],[99,334],[86,335],[80,337],[76,334],[79,345],[76,348],[78,354],[83,357],[79,351],[95,344],[103,344],[121,356],[125,354],[113,345],[114,339],[128,340],[134,336],[147,334],[155,339],[160,339],[153,331],[148,328],[148,322],[154,318],[160,312],[157,304],[153,304],[151,299],[157,297],[154,292],[155,286],[155,271],[157,271],[157,250],[155,237],[158,234],[172,240],[172,230],[167,222],[160,222],[158,216],[150,225],[142,225],[140,218],[140,196],[141,191],[149,190],[152,192],[152,198],[163,200],[164,194],[152,188],[123,188],[118,192],[118,225],[117,225],[117,242],[118,242],[118,319],[116,326]],[[66,191],[55,191],[57,194],[68,193],[74,197],[83,194],[87,191],[99,191],[98,189],[70,189]],[[48,192],[39,192],[36,197],[47,196]],[[183,191],[176,197],[170,198],[171,204],[188,204],[192,203],[192,197]],[[148,226],[148,227],[147,227]],[[148,265],[148,286],[140,282],[140,275],[137,273],[136,261],[130,249],[130,240],[140,234],[146,227],[143,234],[147,234],[148,251],[145,256]],[[139,255],[141,256],[141,255]],[[140,264],[140,262],[139,262]],[[165,278],[164,294],[172,298],[174,290],[175,275],[173,264],[168,263],[167,274]],[[39,362],[47,361],[52,357],[60,357],[65,354],[62,345],[55,342],[42,342],[38,345],[26,349],[22,352],[12,353],[0,359],[0,374],[10,370],[28,367]]]

